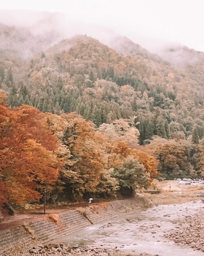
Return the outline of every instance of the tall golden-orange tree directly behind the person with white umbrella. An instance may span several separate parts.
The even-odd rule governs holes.
[[[86,122],[77,114],[63,114],[62,117],[69,123],[62,141],[75,160],[63,178],[72,188],[74,199],[79,200],[84,193],[95,193],[100,183],[107,165],[105,148],[101,143],[104,138],[95,132],[92,122]]]

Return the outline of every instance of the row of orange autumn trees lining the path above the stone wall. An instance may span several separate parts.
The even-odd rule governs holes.
[[[48,200],[113,197],[126,184],[125,176],[113,170],[132,166],[130,157],[134,184],[128,186],[133,190],[147,186],[157,174],[153,156],[129,147],[139,135],[131,119],[96,130],[76,113],[58,116],[27,105],[10,109],[4,97],[0,95],[1,204],[38,202],[43,187]]]

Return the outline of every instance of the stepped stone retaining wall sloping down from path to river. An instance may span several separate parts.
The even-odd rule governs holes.
[[[87,207],[84,215],[72,210],[59,214],[59,222],[37,220],[0,233],[0,256],[12,256],[17,251],[28,251],[33,245],[49,242],[74,231],[111,217],[142,211],[153,204],[146,197],[118,200]]]

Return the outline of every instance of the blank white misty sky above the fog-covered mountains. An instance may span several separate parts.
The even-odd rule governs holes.
[[[204,52],[204,0],[0,0],[0,9],[63,12],[149,49],[170,42]]]

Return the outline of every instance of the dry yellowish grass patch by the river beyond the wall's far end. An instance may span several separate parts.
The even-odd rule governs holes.
[[[198,197],[191,192],[175,193],[162,191],[160,194],[145,194],[153,204],[182,204],[189,201],[197,200]]]

